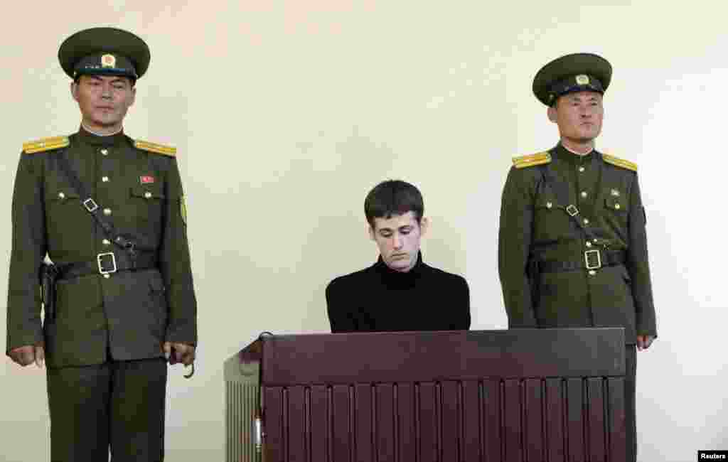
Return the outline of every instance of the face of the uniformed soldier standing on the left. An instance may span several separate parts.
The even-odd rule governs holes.
[[[134,103],[136,89],[131,80],[119,76],[81,76],[71,84],[84,124],[100,130],[118,129]]]

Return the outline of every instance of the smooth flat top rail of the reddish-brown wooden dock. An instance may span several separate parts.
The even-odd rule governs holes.
[[[264,386],[625,375],[621,327],[263,335]]]

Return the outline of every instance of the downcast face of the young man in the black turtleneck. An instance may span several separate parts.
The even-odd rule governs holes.
[[[410,271],[417,263],[419,244],[427,229],[427,218],[417,223],[414,212],[374,218],[374,226],[368,227],[371,239],[379,247],[384,263],[395,271]]]

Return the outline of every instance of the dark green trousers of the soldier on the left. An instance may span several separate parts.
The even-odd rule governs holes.
[[[49,367],[52,462],[161,462],[164,358]]]

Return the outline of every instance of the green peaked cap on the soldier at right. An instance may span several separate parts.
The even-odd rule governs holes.
[[[573,92],[598,92],[604,95],[612,81],[612,65],[599,55],[574,53],[559,57],[534,77],[534,95],[547,106],[558,97]]]

